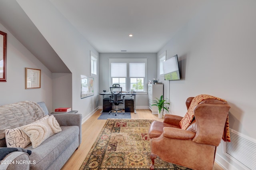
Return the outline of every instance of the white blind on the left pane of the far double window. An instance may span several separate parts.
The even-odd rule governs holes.
[[[111,63],[111,77],[126,77],[126,63]]]

